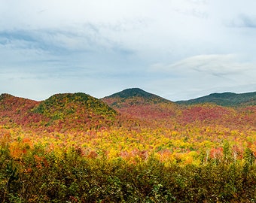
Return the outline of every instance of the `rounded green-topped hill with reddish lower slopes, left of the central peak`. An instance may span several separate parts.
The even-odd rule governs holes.
[[[62,129],[99,129],[111,124],[117,116],[114,109],[85,93],[52,95],[33,109],[50,119],[46,125]]]

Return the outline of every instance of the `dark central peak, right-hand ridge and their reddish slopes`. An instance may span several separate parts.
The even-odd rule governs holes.
[[[211,94],[184,102],[171,102],[139,88],[124,89],[102,101],[121,115],[139,119],[147,125],[172,126],[179,123],[202,125],[246,126],[254,129],[256,119],[253,105],[254,92],[246,94]],[[239,104],[239,105],[238,105]],[[236,105],[237,108],[233,108]],[[154,124],[153,124],[154,123]],[[141,124],[140,124],[141,125]]]

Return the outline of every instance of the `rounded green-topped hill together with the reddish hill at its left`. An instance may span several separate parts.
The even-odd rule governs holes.
[[[108,127],[116,119],[117,112],[84,93],[56,94],[42,102],[2,94],[0,116],[2,124],[66,131]]]

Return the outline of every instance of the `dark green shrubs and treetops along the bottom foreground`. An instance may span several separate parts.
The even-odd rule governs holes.
[[[79,147],[23,148],[21,156],[0,146],[1,202],[255,202],[256,165],[251,150],[243,159],[200,165],[166,165],[154,154],[136,163],[84,156]]]

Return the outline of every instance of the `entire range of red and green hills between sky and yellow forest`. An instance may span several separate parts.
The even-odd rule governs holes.
[[[213,93],[179,102],[139,88],[124,89],[100,99],[81,92],[56,94],[41,102],[9,94],[0,95],[0,124],[48,132],[105,129],[127,126],[127,123],[159,125],[161,122],[165,125],[227,123],[230,126],[246,121],[248,125],[256,126],[255,112],[256,92]]]

